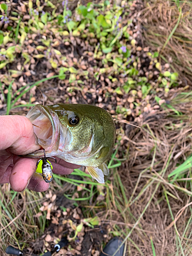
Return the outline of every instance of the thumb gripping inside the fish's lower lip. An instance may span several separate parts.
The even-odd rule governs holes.
[[[0,116],[0,150],[10,147],[16,155],[29,154],[39,149],[35,144],[33,125],[25,116]]]

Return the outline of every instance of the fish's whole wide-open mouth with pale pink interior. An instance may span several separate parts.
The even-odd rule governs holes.
[[[57,152],[60,140],[60,122],[57,114],[47,106],[35,105],[26,116],[33,124],[36,143],[44,148],[46,156]],[[43,150],[38,150],[27,155],[39,158],[44,156]]]

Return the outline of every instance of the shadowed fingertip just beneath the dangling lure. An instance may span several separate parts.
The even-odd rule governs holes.
[[[42,176],[35,173],[31,177],[31,180],[30,180],[29,185],[27,186],[27,188],[29,188],[33,191],[36,191],[36,192],[43,192],[43,191],[46,191],[49,188],[49,183],[46,183],[44,181],[44,179],[42,178]]]

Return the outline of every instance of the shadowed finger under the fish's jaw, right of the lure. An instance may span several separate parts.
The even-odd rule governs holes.
[[[53,173],[55,174],[71,174],[73,173],[73,170],[76,168],[79,168],[80,165],[73,164],[73,163],[68,163],[58,157],[56,157],[57,163],[51,162],[53,166]]]

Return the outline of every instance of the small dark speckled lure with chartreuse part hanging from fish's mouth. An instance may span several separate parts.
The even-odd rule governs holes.
[[[46,157],[45,150],[44,150],[44,157],[39,159],[37,162],[37,167],[38,167],[39,162],[42,160],[42,166],[41,166],[42,177],[44,178],[45,182],[47,182],[47,183],[49,183],[53,180],[53,172],[52,172],[53,166],[50,163],[50,161],[48,161],[48,158],[54,159],[55,163],[57,163],[57,160],[54,157]]]

